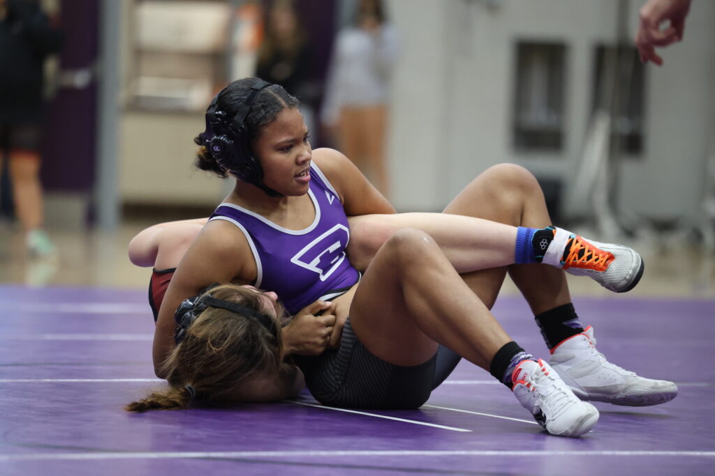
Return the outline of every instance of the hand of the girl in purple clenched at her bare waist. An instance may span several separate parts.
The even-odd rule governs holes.
[[[330,306],[318,300],[293,316],[282,331],[285,355],[320,355],[325,350],[335,326],[335,315],[325,313]]]

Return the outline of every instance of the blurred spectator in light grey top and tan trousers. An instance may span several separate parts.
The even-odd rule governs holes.
[[[385,138],[398,36],[381,0],[358,0],[352,23],[337,35],[321,119],[342,152],[389,198]]]

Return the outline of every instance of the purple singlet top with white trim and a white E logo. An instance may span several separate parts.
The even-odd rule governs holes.
[[[290,314],[342,294],[360,278],[345,255],[350,231],[342,203],[315,163],[310,168],[315,220],[304,230],[282,228],[232,203],[222,203],[209,218],[240,228],[256,260],[255,286],[275,291]]]

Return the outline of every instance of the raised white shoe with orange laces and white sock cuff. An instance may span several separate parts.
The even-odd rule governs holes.
[[[558,253],[571,238],[568,249]],[[562,228],[554,231],[553,243],[555,246],[549,246],[542,263],[576,276],[588,276],[614,293],[635,288],[643,276],[643,258],[628,246],[586,240]]]

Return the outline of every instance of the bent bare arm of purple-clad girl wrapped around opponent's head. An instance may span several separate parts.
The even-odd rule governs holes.
[[[250,283],[256,275],[255,260],[243,233],[226,221],[207,223],[179,263],[159,309],[152,348],[158,377],[164,377],[162,364],[174,346],[174,312],[182,300],[212,283]]]

